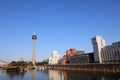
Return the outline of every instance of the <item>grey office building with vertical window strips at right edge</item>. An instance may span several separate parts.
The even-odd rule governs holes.
[[[120,62],[120,42],[115,42],[102,48],[101,57],[103,63]]]

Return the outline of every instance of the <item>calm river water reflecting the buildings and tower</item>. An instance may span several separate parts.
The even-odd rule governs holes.
[[[29,70],[27,72],[2,72],[0,80],[120,80],[119,74],[60,70]]]

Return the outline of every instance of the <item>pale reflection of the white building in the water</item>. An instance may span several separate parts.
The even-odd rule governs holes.
[[[63,80],[61,79],[61,72],[57,70],[49,70],[49,78],[50,80]]]

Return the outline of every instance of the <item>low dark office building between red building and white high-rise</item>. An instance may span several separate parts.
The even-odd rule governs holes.
[[[93,63],[94,56],[93,53],[84,53],[80,55],[71,56],[69,60],[70,64]]]

